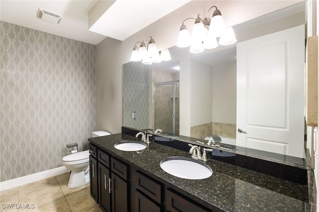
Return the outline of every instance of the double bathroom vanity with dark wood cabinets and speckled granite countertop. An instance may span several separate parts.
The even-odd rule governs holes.
[[[208,157],[212,175],[188,180],[166,173],[160,162],[171,156],[190,158],[190,147],[182,151],[153,141],[141,151],[114,147],[127,140],[141,138],[125,133],[89,138],[91,196],[103,211],[316,211],[312,170],[303,185]]]

